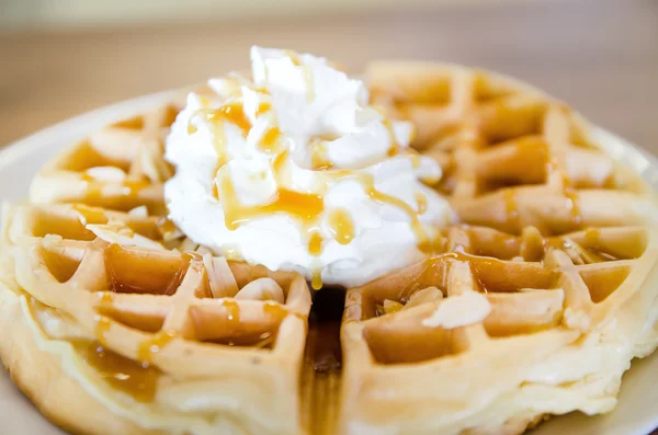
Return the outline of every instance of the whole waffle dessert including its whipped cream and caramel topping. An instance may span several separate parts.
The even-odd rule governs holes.
[[[658,344],[658,215],[580,116],[460,66],[251,61],[4,205],[0,356],[49,420],[512,435],[614,408]]]

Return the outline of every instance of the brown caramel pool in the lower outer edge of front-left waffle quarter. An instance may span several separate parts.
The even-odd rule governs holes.
[[[161,371],[105,348],[98,342],[71,343],[84,363],[93,367],[112,388],[129,394],[138,402],[151,402],[156,397]]]

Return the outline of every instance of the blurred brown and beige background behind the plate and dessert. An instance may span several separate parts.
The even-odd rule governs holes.
[[[656,0],[0,0],[0,146],[245,68],[252,44],[352,71],[379,58],[496,69],[658,153]]]

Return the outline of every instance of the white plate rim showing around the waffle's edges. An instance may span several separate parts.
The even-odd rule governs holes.
[[[67,145],[101,126],[139,113],[171,96],[170,92],[147,95],[80,115],[36,133],[0,151],[0,198],[20,201],[27,195],[34,173]],[[619,160],[633,167],[658,190],[658,160],[605,130],[598,139]],[[658,427],[658,352],[635,360],[622,384],[614,412],[600,416],[580,413],[552,419],[533,435],[647,435]],[[13,386],[4,371],[0,374],[0,435],[63,435],[48,423]]]

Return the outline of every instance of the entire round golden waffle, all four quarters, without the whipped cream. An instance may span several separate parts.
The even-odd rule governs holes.
[[[650,190],[525,84],[412,62],[367,79],[416,123],[461,221],[347,289],[342,370],[304,358],[325,337],[302,276],[166,219],[168,104],[63,152],[4,208],[0,356],[44,414],[89,434],[520,434],[614,407],[658,343]]]

